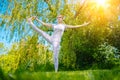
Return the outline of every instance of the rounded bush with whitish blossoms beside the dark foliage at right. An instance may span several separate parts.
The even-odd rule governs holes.
[[[95,65],[97,64],[98,68],[107,68],[111,69],[113,67],[120,65],[119,51],[113,47],[104,43],[100,45],[94,53],[93,57],[95,58]]]

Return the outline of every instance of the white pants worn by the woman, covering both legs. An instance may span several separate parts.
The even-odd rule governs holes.
[[[50,44],[53,45],[53,60],[54,60],[54,68],[55,72],[58,71],[58,55],[59,55],[59,49],[60,49],[60,41],[54,41],[54,38],[52,36],[48,35],[46,32],[40,30],[37,28],[33,23],[30,23],[32,28],[36,30],[43,38],[45,38]],[[59,36],[58,36],[59,37]]]

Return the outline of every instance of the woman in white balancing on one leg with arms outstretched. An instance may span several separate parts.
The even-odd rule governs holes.
[[[45,33],[44,31],[42,31],[41,29],[37,28],[34,25],[34,23],[32,22],[32,20],[37,20],[42,25],[53,28],[53,35],[50,36],[47,33]],[[58,71],[58,54],[59,54],[60,42],[61,42],[61,38],[64,33],[64,30],[66,28],[78,28],[78,27],[82,27],[82,26],[87,26],[89,24],[89,23],[84,23],[82,25],[77,25],[77,26],[66,25],[63,23],[62,15],[57,16],[57,22],[58,22],[57,24],[49,24],[49,23],[45,23],[45,22],[39,20],[35,16],[28,18],[28,23],[31,25],[31,27],[34,30],[36,30],[39,34],[41,34],[42,37],[44,37],[50,44],[53,45],[55,72]]]

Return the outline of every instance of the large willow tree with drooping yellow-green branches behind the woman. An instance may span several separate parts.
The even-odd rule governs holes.
[[[114,32],[111,25],[113,27],[115,27],[114,25],[118,25],[119,27],[120,1],[106,0],[107,2],[104,6],[98,5],[96,1],[9,0],[6,14],[1,15],[1,24],[5,24],[11,29],[12,39],[16,33],[17,36],[22,36],[22,38],[29,34],[30,30],[26,24],[26,18],[33,15],[50,23],[56,22],[55,17],[57,14],[65,16],[64,22],[66,24],[79,25],[84,21],[90,21],[91,24],[89,26],[78,29],[67,29],[65,31],[60,52],[60,65],[62,64],[65,69],[88,69],[96,63],[95,60],[97,60],[97,57],[94,57],[94,54],[99,54],[98,47],[100,45],[108,42],[113,47],[115,46],[119,49],[119,44],[117,44],[118,38],[113,37],[116,31]],[[49,29],[45,30],[50,31]],[[114,38],[113,40],[117,40],[117,43],[112,38]],[[100,54],[102,55],[102,52]]]

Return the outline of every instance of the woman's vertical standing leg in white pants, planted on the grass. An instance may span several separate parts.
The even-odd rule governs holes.
[[[59,55],[59,49],[60,49],[60,42],[53,42],[53,52],[54,52],[54,67],[55,72],[58,71],[58,55]]]

